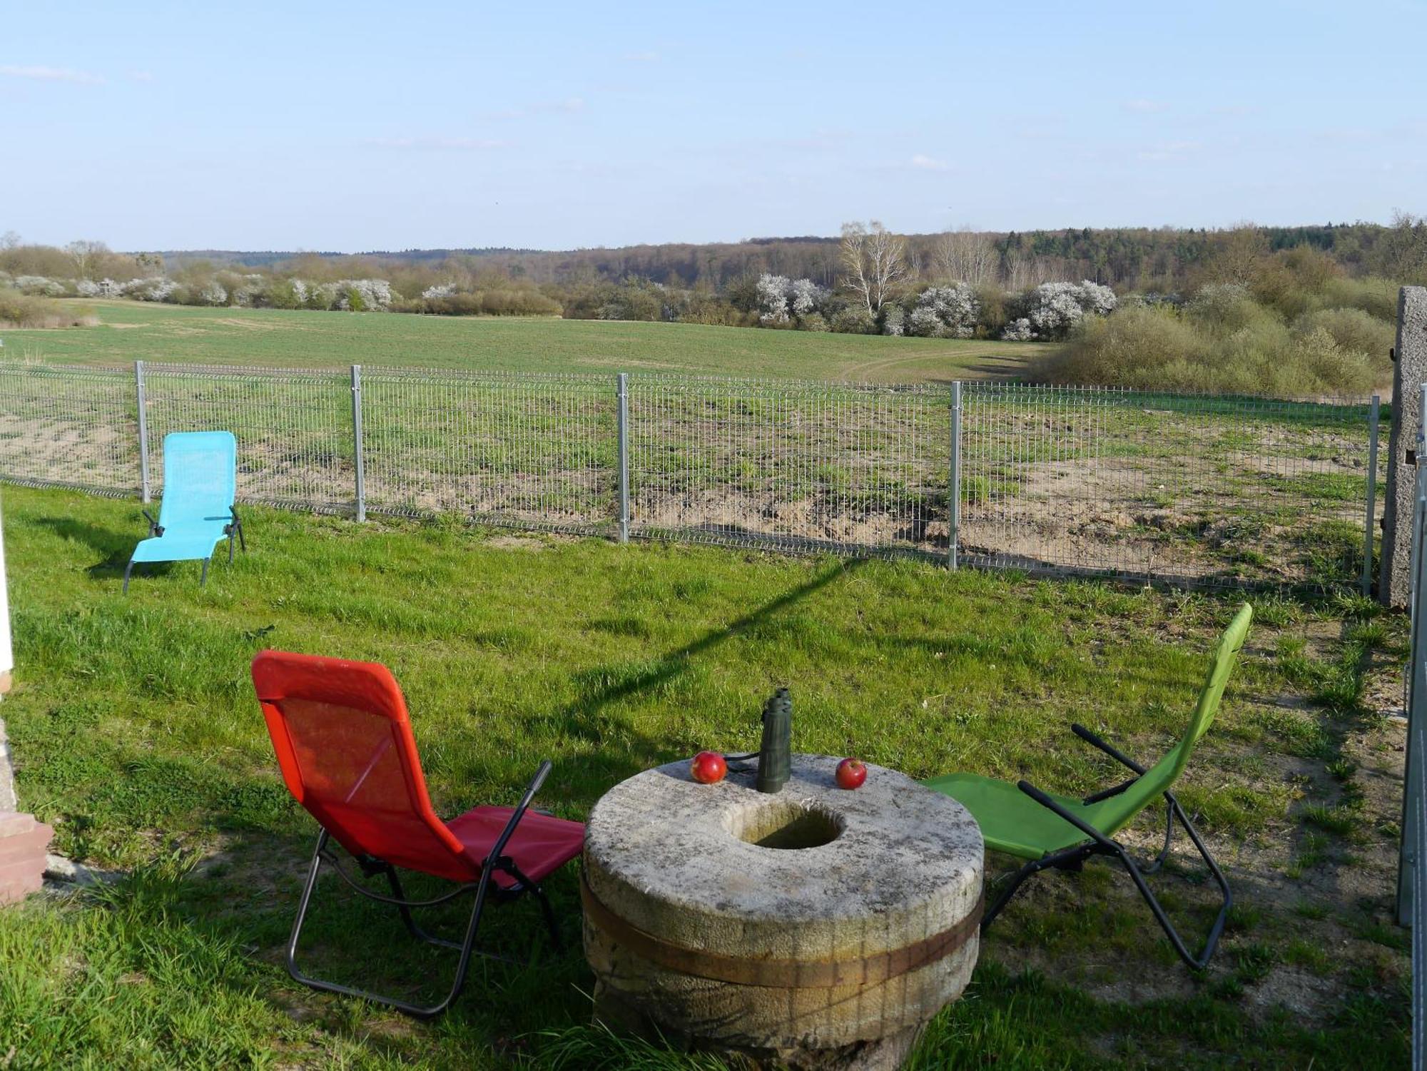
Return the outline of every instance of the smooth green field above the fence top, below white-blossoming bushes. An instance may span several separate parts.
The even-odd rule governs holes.
[[[883,338],[701,324],[193,308],[66,301],[98,327],[6,330],[7,358],[127,364],[374,364],[497,371],[689,371],[920,383],[1015,378],[1035,343]]]

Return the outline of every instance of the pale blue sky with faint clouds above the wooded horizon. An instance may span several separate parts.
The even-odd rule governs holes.
[[[0,0],[0,231],[578,248],[1427,211],[1427,0]]]

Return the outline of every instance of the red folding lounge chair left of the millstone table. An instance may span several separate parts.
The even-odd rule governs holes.
[[[427,797],[407,704],[385,665],[263,651],[253,660],[253,684],[283,778],[323,827],[287,942],[287,970],[294,978],[315,990],[364,997],[418,1018],[440,1015],[465,982],[488,897],[499,902],[534,894],[551,940],[559,947],[555,914],[539,883],[579,854],[585,827],[527,810],[549,773],[549,761],[541,763],[519,805],[477,807],[442,823]],[[365,877],[384,874],[391,895],[374,892],[348,875],[330,840],[355,858]],[[298,971],[297,941],[324,860],[362,895],[394,905],[414,937],[461,952],[445,1000],[420,1007]],[[398,867],[461,885],[434,900],[407,900],[397,878]],[[432,937],[411,917],[414,907],[445,904],[467,892],[475,895],[475,904],[461,944]]]

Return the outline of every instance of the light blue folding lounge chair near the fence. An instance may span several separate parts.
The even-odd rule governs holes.
[[[231,431],[171,431],[164,436],[164,503],[156,521],[148,510],[150,538],[134,547],[124,568],[124,591],[137,561],[203,561],[203,580],[208,581],[213,548],[228,541],[233,563],[233,537],[247,553],[243,523],[233,508],[237,491],[238,443]]]

